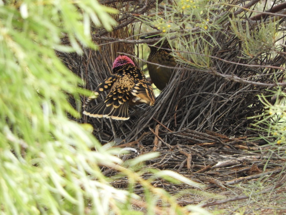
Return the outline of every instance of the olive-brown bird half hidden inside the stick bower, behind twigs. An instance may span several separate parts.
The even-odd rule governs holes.
[[[146,35],[146,36],[141,36],[140,39],[153,39],[153,38],[160,38],[160,35]],[[160,64],[163,66],[168,66],[168,67],[175,67],[176,66],[176,61],[174,57],[170,54],[172,51],[171,50],[166,50],[166,49],[171,49],[171,46],[168,41],[163,41],[162,44],[160,42],[154,46],[154,43],[147,43],[150,47],[150,54],[148,56],[147,61],[151,63],[156,63]],[[164,49],[162,49],[164,48]],[[149,75],[154,83],[154,85],[159,89],[163,90],[166,85],[169,83],[169,80],[172,76],[172,73],[174,69],[168,69],[165,67],[160,67],[158,65],[154,64],[147,64],[148,70],[149,70]]]

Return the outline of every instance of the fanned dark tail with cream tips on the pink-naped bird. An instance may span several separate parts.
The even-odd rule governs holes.
[[[111,98],[112,99],[112,98]],[[91,107],[90,109],[83,112],[83,114],[90,117],[97,118],[112,118],[114,120],[128,120],[128,101],[124,102],[122,105],[115,106],[113,103],[104,100],[98,105]]]

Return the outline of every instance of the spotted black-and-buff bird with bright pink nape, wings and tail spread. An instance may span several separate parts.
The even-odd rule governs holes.
[[[83,114],[90,117],[128,120],[128,104],[154,105],[155,96],[151,83],[129,57],[118,56],[112,69],[114,74],[98,85],[83,107],[86,107],[103,91],[110,89],[110,92],[104,101],[84,111]]]

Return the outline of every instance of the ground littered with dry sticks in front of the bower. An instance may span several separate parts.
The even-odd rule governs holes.
[[[246,141],[246,137],[228,138],[214,132],[199,133],[188,131],[176,133],[188,141],[169,145],[160,136],[153,136],[150,145],[141,139],[122,144],[137,150],[122,157],[132,159],[138,154],[160,152],[160,156],[148,161],[147,168],[172,170],[185,177],[202,183],[204,189],[194,189],[186,184],[172,184],[162,179],[154,181],[155,187],[162,187],[176,195],[180,205],[200,205],[214,214],[285,214],[286,175],[283,147],[260,146],[257,142]],[[151,136],[150,136],[151,137]],[[200,139],[208,140],[201,142]],[[279,148],[279,150],[277,150]],[[276,149],[276,150],[275,150]],[[104,169],[106,176],[116,172]],[[145,176],[143,176],[145,177]],[[148,174],[146,174],[148,178]],[[128,179],[121,178],[112,183],[114,187],[126,188]],[[141,186],[135,188],[142,194]]]

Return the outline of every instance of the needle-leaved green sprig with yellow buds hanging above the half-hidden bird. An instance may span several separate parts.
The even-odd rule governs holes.
[[[170,42],[180,50],[174,55],[179,63],[209,68],[212,50],[219,46],[213,34],[222,32],[222,22],[226,20],[227,14],[219,15],[223,7],[221,1],[175,1],[173,5],[166,4],[163,11],[157,8],[158,15],[141,17],[141,20],[165,33],[162,40],[176,36]]]

